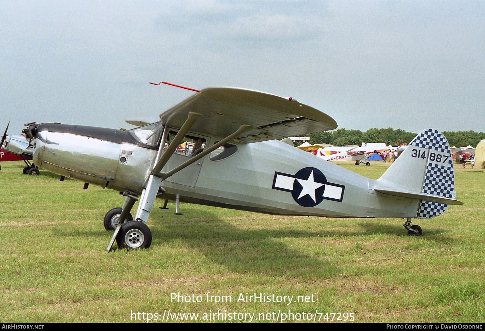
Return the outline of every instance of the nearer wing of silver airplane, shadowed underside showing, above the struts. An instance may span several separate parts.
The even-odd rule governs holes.
[[[180,128],[189,112],[203,115],[190,130],[201,135],[225,137],[242,124],[254,126],[237,137],[246,143],[337,128],[330,116],[296,100],[237,88],[201,90],[162,112],[160,119],[170,127]]]

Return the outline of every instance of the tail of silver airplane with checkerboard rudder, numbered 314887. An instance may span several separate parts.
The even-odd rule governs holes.
[[[449,204],[462,204],[454,199],[450,146],[435,129],[417,135],[377,183],[375,190],[380,193],[420,200],[416,218],[432,218]]]

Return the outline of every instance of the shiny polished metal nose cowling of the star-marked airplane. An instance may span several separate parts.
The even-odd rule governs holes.
[[[46,170],[78,181],[135,193],[153,165],[156,150],[82,135],[41,131],[35,139],[34,162]],[[126,161],[121,162],[121,157]]]

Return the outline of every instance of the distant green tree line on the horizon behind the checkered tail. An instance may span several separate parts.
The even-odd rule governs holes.
[[[340,128],[335,131],[315,132],[301,136],[310,136],[310,144],[331,144],[334,146],[358,145],[362,142],[386,143],[386,145],[407,145],[414,139],[417,133],[407,132],[401,129],[377,129],[372,128],[366,132],[360,130],[347,130]],[[443,131],[450,146],[463,147],[471,145],[476,147],[480,140],[485,139],[484,132],[475,131]]]

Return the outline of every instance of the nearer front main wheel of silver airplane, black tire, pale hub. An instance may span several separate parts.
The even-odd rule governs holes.
[[[116,236],[116,244],[124,249],[143,249],[151,244],[150,228],[140,221],[129,221],[123,224]]]

